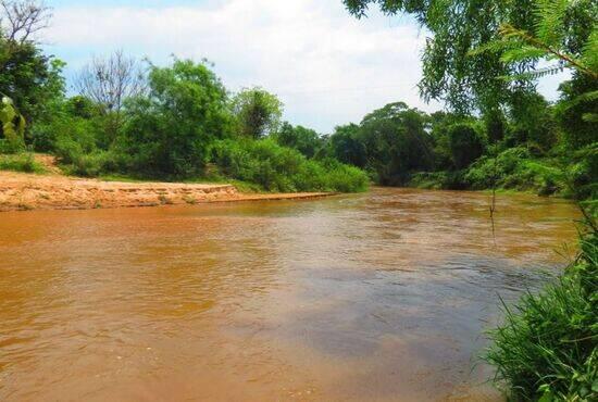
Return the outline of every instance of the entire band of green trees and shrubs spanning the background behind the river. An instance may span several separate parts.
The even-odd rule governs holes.
[[[522,85],[478,112],[460,98],[448,102],[452,112],[432,114],[397,102],[319,134],[283,122],[283,103],[262,88],[231,93],[207,61],[94,58],[67,97],[65,64],[32,36],[47,10],[10,3],[4,20],[15,23],[0,32],[0,92],[27,127],[18,143],[4,128],[0,152],[50,152],[80,176],[237,179],[267,191],[360,191],[372,181],[564,196],[574,188],[584,199],[596,192],[598,101],[585,96],[598,89],[591,76],[574,74],[556,103]]]

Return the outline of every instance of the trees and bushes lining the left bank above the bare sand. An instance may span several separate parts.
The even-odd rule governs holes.
[[[65,64],[30,36],[46,24],[47,10],[35,4],[3,9],[15,23],[0,32],[0,153],[49,152],[67,173],[89,177],[235,179],[288,192],[367,188],[361,169],[301,148],[306,129],[282,123],[274,95],[231,93],[205,60],[157,66],[122,52],[94,58],[74,79],[77,95],[66,96]],[[9,129],[17,115],[26,127]],[[32,158],[0,165],[38,169]]]

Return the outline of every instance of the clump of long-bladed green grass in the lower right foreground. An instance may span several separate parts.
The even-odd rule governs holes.
[[[504,306],[486,360],[515,400],[598,399],[598,236],[581,239],[575,263],[539,294]]]

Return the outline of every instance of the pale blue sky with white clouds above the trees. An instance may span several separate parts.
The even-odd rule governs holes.
[[[94,55],[115,50],[166,65],[172,55],[214,63],[231,91],[260,86],[284,118],[321,133],[359,123],[386,103],[432,112],[419,97],[423,32],[376,11],[356,20],[341,0],[47,0],[48,52],[67,79]],[[555,92],[555,85],[545,85]]]

